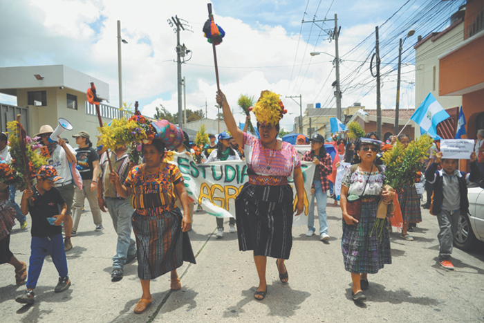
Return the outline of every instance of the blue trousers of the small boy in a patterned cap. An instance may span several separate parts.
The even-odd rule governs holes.
[[[55,234],[53,237],[32,237],[27,288],[37,286],[42,265],[44,265],[44,259],[47,255],[50,255],[59,277],[67,276],[67,259],[62,234]]]

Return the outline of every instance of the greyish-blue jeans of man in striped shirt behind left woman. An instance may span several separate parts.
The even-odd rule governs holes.
[[[106,205],[118,234],[118,246],[113,257],[113,268],[123,268],[128,256],[136,255],[136,242],[131,238],[131,216],[133,207],[129,199],[106,197]]]

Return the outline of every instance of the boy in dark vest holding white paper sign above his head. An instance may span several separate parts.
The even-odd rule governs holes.
[[[473,151],[470,158],[471,172],[460,172],[458,159],[443,159],[442,153],[436,154],[436,160],[425,171],[425,178],[434,185],[434,202],[431,205],[431,214],[436,214],[440,232],[438,233],[438,262],[444,268],[454,270],[450,261],[454,237],[456,236],[460,213],[469,212],[469,199],[467,199],[467,185],[479,180],[479,169],[476,163],[476,153]],[[437,170],[438,164],[443,169]]]

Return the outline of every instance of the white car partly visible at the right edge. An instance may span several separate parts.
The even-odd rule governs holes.
[[[476,241],[484,241],[484,181],[481,187],[469,188],[469,213],[460,214],[454,246],[468,250]]]

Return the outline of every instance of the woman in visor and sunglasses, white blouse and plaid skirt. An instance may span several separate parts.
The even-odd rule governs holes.
[[[380,199],[389,202],[394,192],[383,190],[384,174],[373,163],[382,142],[369,138],[357,140],[355,165],[346,168],[341,187],[341,209],[343,212],[342,252],[344,268],[351,273],[355,301],[364,301],[362,289],[369,288],[368,274],[378,273],[384,264],[391,264],[390,238],[388,230],[382,237],[371,234],[376,220],[376,210]],[[348,196],[362,197],[360,220],[348,214]],[[371,236],[371,237],[370,237]]]

